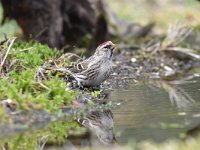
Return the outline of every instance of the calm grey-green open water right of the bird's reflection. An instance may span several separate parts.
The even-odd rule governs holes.
[[[200,78],[184,82],[129,82],[126,90],[112,91],[110,99],[118,105],[113,110],[118,143],[164,142],[200,124]]]

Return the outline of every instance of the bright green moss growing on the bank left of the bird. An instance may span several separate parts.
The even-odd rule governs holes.
[[[16,63],[9,75],[0,79],[0,99],[12,99],[21,109],[37,104],[48,111],[58,110],[59,106],[70,103],[74,92],[66,88],[63,80],[57,77],[40,82],[35,80],[37,68],[58,55],[58,51],[39,43],[14,43],[6,61],[16,60]]]

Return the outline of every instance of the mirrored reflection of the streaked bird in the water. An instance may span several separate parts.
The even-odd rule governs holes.
[[[110,110],[91,111],[86,117],[78,121],[84,127],[88,128],[92,132],[92,135],[96,135],[101,144],[113,145],[116,143],[113,130],[113,114]]]

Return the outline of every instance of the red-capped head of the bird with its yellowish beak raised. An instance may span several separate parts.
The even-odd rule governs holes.
[[[95,55],[112,59],[113,50],[115,48],[116,48],[116,45],[113,44],[111,41],[104,42],[97,47],[95,51]]]

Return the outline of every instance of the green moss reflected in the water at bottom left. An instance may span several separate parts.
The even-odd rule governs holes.
[[[5,143],[8,143],[9,149],[13,150],[36,150],[40,149],[42,144],[62,145],[71,128],[77,128],[76,122],[54,122],[49,124],[42,130],[29,131],[21,135],[4,138],[0,141],[2,148]]]

